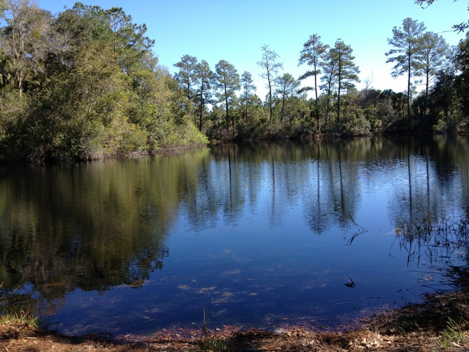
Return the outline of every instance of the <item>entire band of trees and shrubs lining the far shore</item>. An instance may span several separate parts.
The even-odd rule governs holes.
[[[371,80],[358,90],[350,45],[313,34],[298,48],[298,78],[284,72],[275,50],[261,47],[264,100],[251,73],[226,60],[212,69],[187,54],[172,76],[146,32],[122,8],[77,2],[53,16],[30,0],[0,0],[0,159],[89,160],[231,139],[469,129],[469,36],[450,47],[410,18],[387,39],[393,75],[407,78],[404,92],[374,89]],[[314,86],[301,87],[306,79]]]

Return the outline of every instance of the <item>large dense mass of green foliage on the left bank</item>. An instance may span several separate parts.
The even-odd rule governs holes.
[[[25,36],[36,38],[40,28],[55,46],[33,45],[36,51],[17,58],[0,52],[1,158],[95,159],[208,143],[180,109],[186,102],[151,53],[145,24],[132,23],[122,8],[80,2],[50,21],[28,1],[17,2],[11,12],[36,23]],[[4,48],[11,38],[2,33]],[[41,57],[52,61],[44,65]]]

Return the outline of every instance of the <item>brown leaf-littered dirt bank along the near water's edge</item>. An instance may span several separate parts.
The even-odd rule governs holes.
[[[0,352],[151,351],[469,351],[469,292],[426,297],[346,331],[293,328],[281,332],[217,331],[205,339],[166,334],[141,341],[97,335],[64,336],[27,325],[0,326]],[[172,337],[168,337],[172,336]],[[205,344],[204,344],[205,343]]]

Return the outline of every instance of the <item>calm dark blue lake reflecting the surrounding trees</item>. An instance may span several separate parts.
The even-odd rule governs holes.
[[[465,285],[468,155],[379,136],[1,166],[1,287],[66,334],[205,309],[213,329],[346,326]]]

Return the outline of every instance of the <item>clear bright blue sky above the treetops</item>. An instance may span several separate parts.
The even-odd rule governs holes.
[[[74,0],[37,0],[53,14],[73,7]],[[215,64],[226,60],[239,74],[251,72],[257,95],[265,97],[266,81],[262,69],[261,46],[269,45],[279,55],[283,72],[298,78],[309,69],[298,66],[303,44],[312,34],[331,46],[337,39],[350,45],[363,81],[372,78],[377,89],[406,89],[405,78],[391,77],[392,64],[385,52],[391,47],[394,26],[405,18],[424,22],[427,31],[439,33],[448,44],[456,45],[465,34],[454,33],[451,26],[469,19],[468,1],[436,0],[423,9],[414,0],[82,0],[104,9],[122,7],[134,23],[145,23],[148,36],[155,40],[154,52],[171,74],[180,58],[189,54]],[[312,85],[304,81],[303,85]]]

